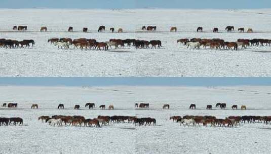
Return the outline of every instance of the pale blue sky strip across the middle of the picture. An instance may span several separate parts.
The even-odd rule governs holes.
[[[0,78],[0,86],[271,86],[271,78]]]

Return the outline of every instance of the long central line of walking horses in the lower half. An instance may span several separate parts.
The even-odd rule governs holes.
[[[38,117],[38,120],[42,123],[48,123],[50,126],[75,126],[75,127],[102,127],[103,125],[109,125],[109,123],[133,123],[135,125],[156,125],[156,120],[152,118],[136,118],[135,116],[101,116],[98,115],[94,119],[86,119],[81,115],[67,116],[67,115],[53,115]],[[101,124],[101,125],[100,125]]]

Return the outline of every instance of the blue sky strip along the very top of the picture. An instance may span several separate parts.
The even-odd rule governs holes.
[[[0,8],[270,8],[270,0],[0,0]]]

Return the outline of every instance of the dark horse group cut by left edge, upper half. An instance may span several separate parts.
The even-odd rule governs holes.
[[[33,40],[23,40],[23,41],[16,41],[16,40],[6,40],[5,38],[0,38],[0,47],[2,48],[30,48],[33,47],[35,42]],[[30,46],[31,45],[31,46]]]

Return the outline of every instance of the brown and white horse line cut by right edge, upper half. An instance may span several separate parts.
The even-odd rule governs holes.
[[[210,49],[219,49],[221,50],[238,50],[238,47],[241,46],[241,49],[247,49],[251,46],[267,46],[271,44],[271,40],[268,39],[259,39],[254,38],[252,40],[249,39],[243,39],[240,38],[237,40],[237,42],[225,42],[224,40],[220,38],[213,38],[213,39],[202,39],[202,38],[191,38],[190,40],[188,38],[181,38],[177,40],[177,44],[180,43],[184,46],[187,46],[187,48],[190,49],[200,49],[201,46],[203,46],[204,49],[206,47],[210,47]]]

